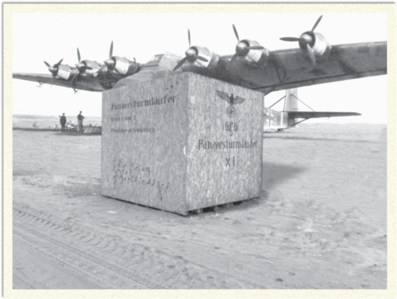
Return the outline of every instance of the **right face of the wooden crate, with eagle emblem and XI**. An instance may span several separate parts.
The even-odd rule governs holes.
[[[190,74],[189,210],[259,196],[263,94]]]

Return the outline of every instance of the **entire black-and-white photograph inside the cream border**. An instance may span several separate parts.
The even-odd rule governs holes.
[[[387,12],[26,11],[13,292],[391,286]]]

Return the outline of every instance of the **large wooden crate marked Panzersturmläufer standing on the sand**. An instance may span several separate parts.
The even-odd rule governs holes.
[[[259,196],[262,93],[184,72],[102,94],[103,195],[182,215]]]

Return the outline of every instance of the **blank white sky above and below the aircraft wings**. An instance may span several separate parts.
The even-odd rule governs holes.
[[[270,51],[297,48],[297,42],[280,37],[299,37],[311,30],[322,13],[14,13],[12,71],[50,74],[44,61],[103,63],[113,40],[113,55],[145,63],[154,55],[172,52],[184,56],[192,45],[205,46],[219,55],[234,54],[237,40],[258,41]],[[386,14],[324,13],[316,32],[331,45],[387,40]],[[312,122],[387,122],[387,76],[326,83],[298,89],[298,97],[315,111],[358,112],[362,116],[314,119]],[[13,80],[13,114],[101,116],[101,93]],[[266,96],[270,106],[284,91]],[[282,105],[275,106],[282,109]],[[300,106],[301,110],[308,110]]]

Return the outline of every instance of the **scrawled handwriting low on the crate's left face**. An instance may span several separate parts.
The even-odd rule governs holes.
[[[162,182],[153,178],[150,167],[139,162],[123,162],[113,159],[113,189],[123,184],[137,184],[148,188],[157,188],[160,200],[163,200],[164,191],[168,191],[171,183]]]

